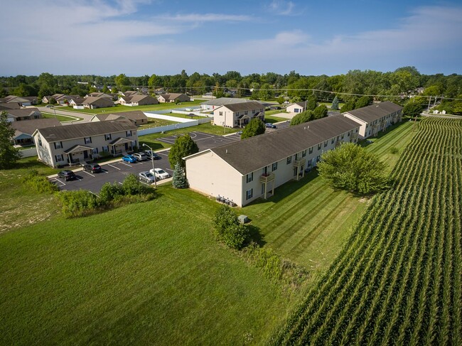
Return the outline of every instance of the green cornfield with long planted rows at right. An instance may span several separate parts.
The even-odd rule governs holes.
[[[280,345],[462,345],[462,121],[425,119]]]

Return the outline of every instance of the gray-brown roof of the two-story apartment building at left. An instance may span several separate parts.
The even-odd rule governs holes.
[[[107,120],[72,124],[66,126],[46,127],[37,131],[48,142],[65,141],[68,139],[112,134],[127,130],[135,130],[136,125],[129,120]]]

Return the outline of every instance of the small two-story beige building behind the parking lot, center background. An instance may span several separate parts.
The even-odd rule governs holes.
[[[243,127],[252,118],[264,121],[264,106],[257,101],[231,103],[213,110],[213,124],[226,127]]]

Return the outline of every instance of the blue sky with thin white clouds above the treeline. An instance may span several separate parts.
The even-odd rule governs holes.
[[[10,0],[0,75],[462,74],[462,1]]]

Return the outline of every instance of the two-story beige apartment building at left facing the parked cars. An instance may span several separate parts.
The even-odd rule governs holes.
[[[128,120],[46,127],[36,129],[32,136],[38,159],[51,167],[116,156],[138,146],[136,126]]]

